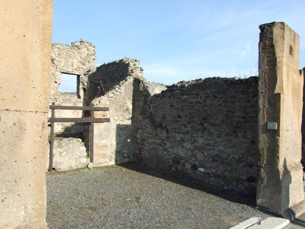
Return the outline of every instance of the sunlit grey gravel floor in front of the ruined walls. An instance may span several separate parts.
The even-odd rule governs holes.
[[[56,228],[229,228],[257,209],[255,197],[126,163],[47,173],[47,222]]]

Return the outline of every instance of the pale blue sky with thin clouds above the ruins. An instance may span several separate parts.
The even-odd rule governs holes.
[[[257,74],[260,24],[284,21],[300,35],[305,1],[54,0],[53,42],[95,44],[96,66],[138,58],[150,81],[173,84]]]

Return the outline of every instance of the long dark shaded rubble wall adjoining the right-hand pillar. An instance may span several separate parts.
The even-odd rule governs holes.
[[[179,82],[152,95],[136,79],[137,161],[254,194],[259,174],[257,77]]]

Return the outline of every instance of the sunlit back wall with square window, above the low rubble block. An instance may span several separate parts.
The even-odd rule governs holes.
[[[84,90],[87,88],[88,75],[95,71],[95,46],[85,40],[72,42],[68,44],[52,44],[52,67],[51,67],[51,96],[50,104],[56,105],[83,106]],[[61,83],[61,72],[79,73],[75,89],[78,93],[60,93],[58,91]],[[75,76],[77,77],[77,76]],[[56,110],[56,117],[77,118],[82,117],[82,111]],[[49,117],[51,111],[49,111]],[[61,133],[60,136],[80,136],[83,133],[84,125],[75,123],[56,123],[55,133]]]

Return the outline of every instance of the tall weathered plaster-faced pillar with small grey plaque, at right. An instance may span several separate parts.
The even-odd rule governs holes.
[[[304,201],[299,43],[283,22],[260,25],[257,205],[289,218],[302,212]]]

